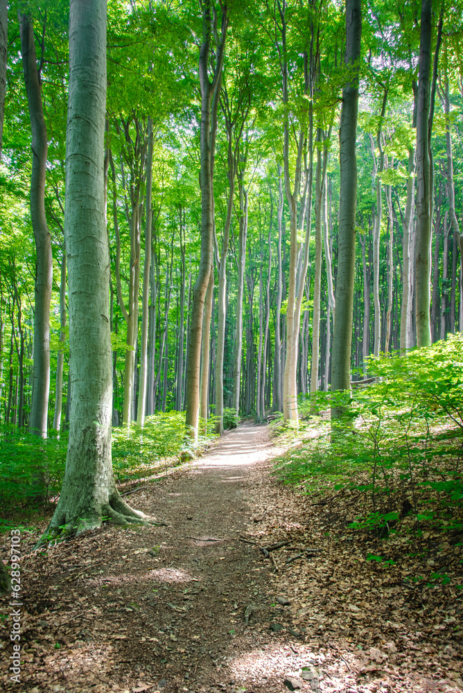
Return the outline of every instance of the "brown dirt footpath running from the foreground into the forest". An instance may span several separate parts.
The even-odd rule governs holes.
[[[30,554],[24,642],[40,644],[24,661],[28,693],[238,693],[256,676],[266,692],[286,690],[262,658],[284,633],[269,629],[271,565],[256,532],[265,509],[254,511],[278,452],[268,427],[245,423],[127,497],[166,526],[106,525]],[[246,659],[256,648],[257,668]]]

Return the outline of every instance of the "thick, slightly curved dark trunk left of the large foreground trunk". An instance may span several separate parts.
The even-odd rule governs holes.
[[[42,87],[35,58],[33,19],[19,15],[21,53],[32,129],[30,219],[35,238],[35,307],[32,406],[30,431],[46,438],[50,392],[50,301],[53,282],[51,236],[45,216],[45,177],[48,142],[42,108]]]

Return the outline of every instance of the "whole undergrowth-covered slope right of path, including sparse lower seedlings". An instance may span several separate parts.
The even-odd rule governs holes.
[[[329,394],[316,407],[306,401],[299,428],[272,424],[290,443],[274,474],[333,517],[342,509],[342,527],[374,544],[366,561],[392,568],[406,553],[420,567],[405,582],[463,596],[462,335],[371,359],[368,374],[376,382],[341,402],[349,408],[336,428]],[[435,560],[437,546],[444,561]]]

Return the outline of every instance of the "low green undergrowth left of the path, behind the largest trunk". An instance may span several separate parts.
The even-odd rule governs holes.
[[[201,454],[216,439],[215,421],[211,417],[202,422],[194,454]],[[130,493],[133,484],[162,477],[182,459],[193,457],[184,433],[184,412],[147,416],[143,428],[114,427],[112,467],[121,493]],[[1,430],[0,532],[11,527],[31,529],[52,514],[62,487],[68,437],[68,430],[52,432],[47,439],[13,426]]]

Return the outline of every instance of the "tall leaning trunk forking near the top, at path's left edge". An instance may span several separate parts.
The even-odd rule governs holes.
[[[213,156],[216,148],[217,108],[222,82],[222,64],[227,35],[227,6],[222,6],[221,34],[216,50],[216,68],[212,82],[208,69],[211,44],[211,0],[204,0],[202,10],[202,45],[199,73],[201,89],[200,188],[201,188],[201,254],[198,279],[193,287],[189,335],[188,372],[186,374],[186,435],[193,444],[198,439],[200,414],[200,364],[204,297],[212,272],[213,244]]]

